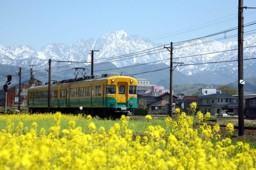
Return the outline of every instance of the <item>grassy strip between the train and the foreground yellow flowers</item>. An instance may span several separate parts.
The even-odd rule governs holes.
[[[145,121],[145,116],[139,116],[140,119],[134,119],[131,116],[131,119],[128,124],[128,128],[133,130],[134,135],[142,135],[144,131],[148,129],[148,126],[150,125],[160,125],[162,127],[166,127],[166,124],[164,122],[164,119],[152,119],[149,122]],[[101,126],[105,127],[106,132],[112,127],[115,123],[120,123],[120,121],[117,120],[111,120],[111,119],[99,119],[99,118],[93,118],[91,121],[85,119],[85,117],[81,116],[71,116],[71,115],[63,115],[61,118],[61,130],[67,129],[68,124],[70,120],[76,121],[76,127],[81,127],[83,133],[88,133],[88,125],[90,122],[93,122],[97,129]],[[13,115],[0,115],[0,130],[5,129],[7,120],[11,120],[14,123],[14,127],[17,126],[19,122],[23,122],[24,127],[31,128],[32,122],[38,123],[38,132],[42,127],[46,130],[46,133],[49,133],[49,128],[54,124],[55,120],[53,118],[53,115],[43,115],[43,114],[13,114]]]

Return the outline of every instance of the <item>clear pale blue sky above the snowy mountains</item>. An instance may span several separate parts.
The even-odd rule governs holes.
[[[244,0],[244,6],[256,7],[256,0]],[[96,40],[119,30],[157,43],[178,42],[236,27],[237,7],[238,0],[2,0],[0,45],[27,44],[39,51],[47,43],[71,46],[79,39]],[[226,18],[216,20],[222,17]],[[229,21],[169,34],[213,20],[208,25]],[[244,23],[255,20],[256,9],[244,9]],[[163,34],[168,37],[156,37]]]

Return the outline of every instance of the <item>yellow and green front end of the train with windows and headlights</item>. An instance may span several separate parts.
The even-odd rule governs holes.
[[[127,76],[106,79],[105,104],[111,116],[127,115],[137,106],[137,80]]]

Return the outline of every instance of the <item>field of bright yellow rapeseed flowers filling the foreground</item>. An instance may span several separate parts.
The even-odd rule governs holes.
[[[209,114],[197,114],[198,121]],[[88,133],[76,126],[78,116],[52,114],[0,116],[6,128],[0,132],[1,170],[255,170],[256,149],[230,138],[220,139],[220,127],[204,123],[195,128],[192,116],[180,113],[178,120],[166,118],[166,127],[149,125],[143,135],[128,129],[129,117],[122,116],[108,132],[96,127],[87,116]],[[54,125],[38,130],[36,121],[54,119]],[[69,119],[67,129],[60,123]],[[14,120],[19,123],[14,127]],[[32,120],[31,128],[24,120]],[[151,120],[149,116],[145,121]],[[148,122],[146,122],[148,123]],[[232,133],[233,126],[227,130]],[[38,132],[38,133],[37,133]]]

